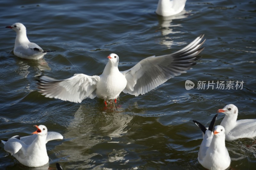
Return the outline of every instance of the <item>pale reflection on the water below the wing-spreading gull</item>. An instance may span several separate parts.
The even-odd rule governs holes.
[[[127,152],[117,146],[129,144],[119,138],[127,133],[126,127],[133,117],[115,105],[108,107],[99,111],[101,105],[79,106],[63,134],[66,141],[57,146],[61,157],[78,163],[77,168],[82,169],[95,168],[95,161],[98,168],[102,168],[104,162],[129,161],[124,158]],[[99,165],[99,162],[102,163]]]

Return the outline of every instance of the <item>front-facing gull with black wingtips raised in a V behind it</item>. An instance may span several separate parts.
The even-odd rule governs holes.
[[[198,162],[210,170],[224,170],[230,166],[230,157],[225,146],[225,128],[217,125],[213,131],[217,115],[213,117],[208,129],[193,120],[204,133],[198,152]]]

